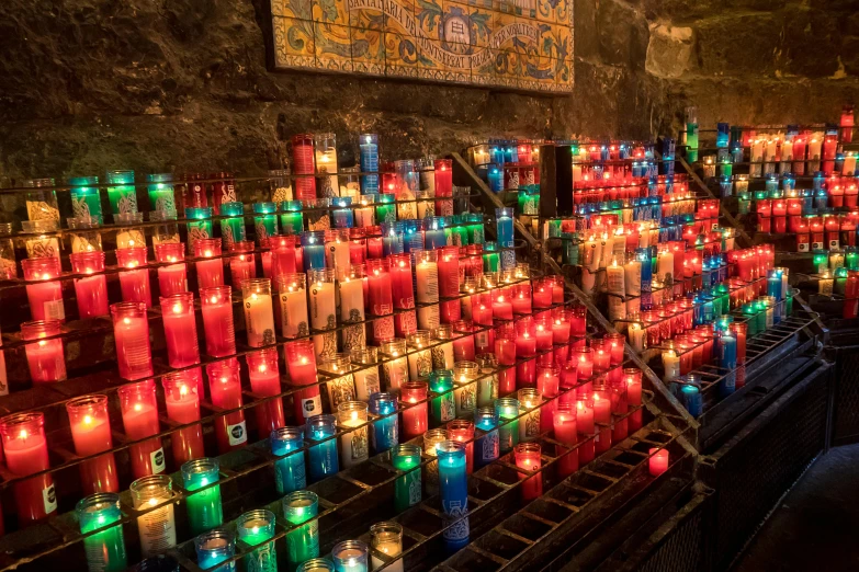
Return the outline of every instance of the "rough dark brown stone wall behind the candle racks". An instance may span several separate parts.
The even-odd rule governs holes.
[[[569,96],[269,72],[264,2],[5,0],[0,175],[249,175],[308,130],[344,149],[378,131],[417,157],[499,135],[645,138],[689,104],[703,125],[835,121],[859,99],[856,0],[576,0]]]

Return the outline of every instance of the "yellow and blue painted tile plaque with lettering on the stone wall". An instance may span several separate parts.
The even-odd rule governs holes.
[[[573,89],[570,0],[270,0],[274,67]]]

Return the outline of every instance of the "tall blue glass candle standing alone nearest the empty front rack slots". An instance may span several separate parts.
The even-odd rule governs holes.
[[[468,544],[468,477],[465,471],[465,446],[455,441],[436,445],[439,458],[439,493],[447,516],[442,533],[448,550],[454,552]]]

